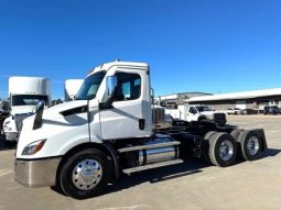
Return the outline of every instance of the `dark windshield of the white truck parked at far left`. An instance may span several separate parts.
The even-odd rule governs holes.
[[[36,106],[39,101],[44,101],[48,106],[47,96],[39,95],[18,95],[12,96],[12,106]]]

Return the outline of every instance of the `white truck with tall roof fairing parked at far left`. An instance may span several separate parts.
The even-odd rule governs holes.
[[[24,118],[35,112],[36,103],[44,101],[45,107],[51,104],[50,80],[42,77],[10,77],[9,100],[11,111],[3,122],[3,133],[6,141],[17,142],[18,126]]]

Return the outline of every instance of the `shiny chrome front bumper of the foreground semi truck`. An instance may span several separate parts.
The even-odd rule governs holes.
[[[47,159],[15,159],[14,179],[25,187],[54,186],[61,157]]]

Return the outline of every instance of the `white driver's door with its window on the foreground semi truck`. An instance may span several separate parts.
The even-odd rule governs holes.
[[[117,87],[112,107],[100,110],[104,140],[142,137],[147,135],[148,107],[142,100],[145,71],[117,71]]]

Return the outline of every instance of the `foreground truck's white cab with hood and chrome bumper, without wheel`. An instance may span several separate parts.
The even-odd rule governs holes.
[[[98,158],[97,165],[102,165],[114,158],[110,157],[116,153],[112,142],[150,137],[150,93],[147,64],[115,62],[94,68],[74,101],[42,109],[41,114],[23,120],[15,154],[15,179],[29,187],[54,185],[61,165],[83,148],[102,151],[108,156]],[[83,187],[76,186],[80,191]]]

